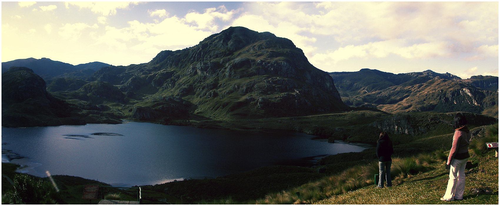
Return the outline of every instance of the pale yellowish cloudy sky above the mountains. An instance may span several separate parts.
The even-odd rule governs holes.
[[[1,3],[1,61],[129,65],[229,26],[285,37],[324,71],[498,76],[498,2]]]

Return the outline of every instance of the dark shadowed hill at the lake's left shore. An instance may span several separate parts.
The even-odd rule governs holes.
[[[1,78],[2,126],[119,123],[112,113],[88,111],[54,97],[30,68],[12,66]]]

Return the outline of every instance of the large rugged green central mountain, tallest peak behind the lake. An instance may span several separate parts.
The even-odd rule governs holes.
[[[85,80],[109,85],[69,92],[55,91],[54,84],[50,89],[61,98],[119,104],[126,116],[144,120],[187,118],[188,113],[259,118],[348,109],[328,73],[311,65],[290,40],[244,27],[229,27],[189,48],[161,51],[148,63],[102,67]],[[52,83],[57,82],[68,84]],[[103,98],[96,91],[116,94],[111,85],[124,99]],[[96,92],[100,99],[89,98]]]

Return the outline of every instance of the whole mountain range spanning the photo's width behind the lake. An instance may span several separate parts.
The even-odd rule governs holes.
[[[40,75],[45,76],[45,92],[77,108],[73,113],[87,123],[134,118],[186,125],[188,119],[259,119],[350,110],[467,111],[498,116],[498,77],[461,79],[431,70],[393,74],[368,68],[327,73],[310,64],[291,40],[244,27],[229,27],[182,50],[161,51],[141,64],[73,66],[27,58],[2,66],[10,64],[48,72]],[[38,74],[31,68],[24,70],[17,73]],[[2,89],[17,90],[17,84],[9,84],[18,82],[5,82]],[[12,105],[15,108],[5,107],[11,116],[18,111],[26,114],[21,107],[29,106]],[[105,118],[99,119],[100,115]]]

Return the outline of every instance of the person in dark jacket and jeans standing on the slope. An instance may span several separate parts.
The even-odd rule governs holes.
[[[376,156],[378,157],[378,187],[383,187],[383,180],[387,181],[387,186],[392,186],[390,181],[390,164],[392,159],[392,141],[387,132],[380,132],[380,137],[376,142]]]

